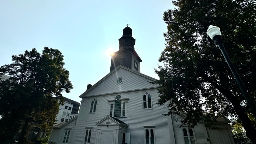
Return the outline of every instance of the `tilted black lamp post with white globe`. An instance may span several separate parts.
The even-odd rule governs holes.
[[[247,93],[247,90],[245,89],[245,85],[243,84],[240,76],[238,75],[235,67],[233,66],[229,56],[227,55],[227,52],[224,48],[224,45],[222,43],[222,38],[221,38],[221,29],[219,27],[216,27],[216,26],[212,26],[210,25],[208,30],[206,31],[207,35],[209,35],[209,37],[215,42],[215,44],[217,44],[231,70],[231,72],[233,73],[235,79],[236,79],[236,82],[240,88],[240,90],[242,91],[242,94],[244,95],[245,97],[245,100],[246,100],[246,103],[247,103],[247,106],[250,108],[252,114],[254,115],[254,118],[256,119],[256,108],[255,108],[255,105],[253,105],[253,102],[249,96],[249,94]]]

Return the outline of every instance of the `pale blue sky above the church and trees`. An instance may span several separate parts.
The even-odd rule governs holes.
[[[173,8],[171,0],[0,0],[0,66],[25,50],[58,49],[74,85],[63,96],[80,102],[87,84],[109,73],[107,51],[118,51],[129,20],[142,59],[140,72],[158,78],[154,68],[167,31],[163,12]]]

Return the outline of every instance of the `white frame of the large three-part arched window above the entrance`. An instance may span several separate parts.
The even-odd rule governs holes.
[[[128,102],[129,98],[123,98],[123,96],[121,94],[117,94],[117,95],[121,96],[121,98],[119,99],[119,100],[121,100],[121,114],[118,117],[127,117],[127,102]],[[114,117],[114,113],[115,113],[115,100],[116,100],[116,96],[117,95],[115,95],[114,99],[108,100],[108,102],[109,102],[109,115],[111,114],[110,113],[110,111],[111,111],[111,104],[113,105],[112,115],[110,115],[112,117]],[[124,103],[125,103],[125,106],[124,106]],[[123,113],[123,110],[124,110],[123,108],[125,108],[125,113]]]

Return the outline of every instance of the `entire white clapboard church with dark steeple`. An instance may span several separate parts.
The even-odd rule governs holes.
[[[156,79],[140,73],[132,29],[125,27],[110,72],[79,97],[77,117],[53,126],[49,144],[234,144],[228,121],[179,127],[178,115],[157,105]]]

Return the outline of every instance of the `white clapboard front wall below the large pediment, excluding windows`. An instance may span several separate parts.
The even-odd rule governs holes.
[[[142,94],[148,92],[152,97],[153,109],[143,110]],[[158,91],[140,91],[131,93],[120,93],[122,98],[129,98],[127,101],[127,117],[118,118],[128,125],[126,133],[130,133],[130,143],[145,143],[145,129],[144,126],[155,126],[155,139],[156,143],[170,142],[170,134],[168,128],[167,116],[162,114],[166,113],[165,106],[157,105]],[[91,102],[97,100],[96,113],[89,113]],[[85,128],[93,127],[91,143],[95,142],[95,135],[97,125],[96,122],[109,114],[110,104],[107,100],[115,98],[115,94],[108,96],[97,96],[92,98],[84,98],[81,103],[77,125],[75,130],[76,138],[74,143],[81,143],[85,137]]]

